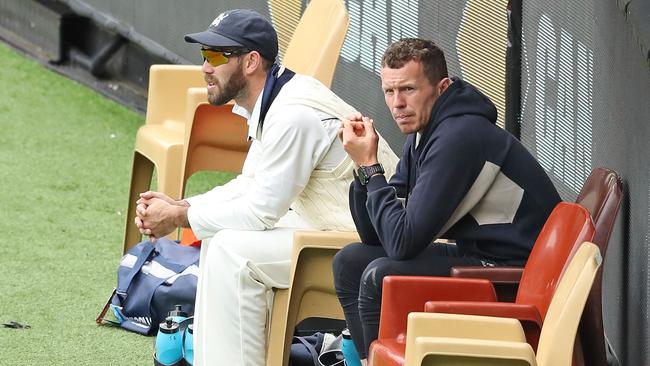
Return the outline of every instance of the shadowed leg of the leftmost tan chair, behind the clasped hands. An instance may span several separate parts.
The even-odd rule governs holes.
[[[140,193],[147,191],[151,187],[151,177],[153,176],[153,163],[144,155],[133,152],[133,168],[131,170],[131,187],[129,188],[129,202],[126,210],[126,227],[124,229],[124,253],[142,240],[142,235],[135,226],[135,201],[138,200]]]

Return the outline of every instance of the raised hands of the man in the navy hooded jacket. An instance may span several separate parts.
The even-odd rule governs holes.
[[[350,159],[358,166],[370,166],[377,163],[377,146],[379,135],[375,131],[371,118],[355,113],[341,123],[339,139]]]

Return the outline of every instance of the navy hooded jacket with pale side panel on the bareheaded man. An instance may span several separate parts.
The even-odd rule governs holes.
[[[352,183],[350,209],[362,241],[399,260],[446,238],[463,255],[523,264],[560,196],[496,117],[485,95],[454,78],[417,146],[416,134],[407,137],[390,183],[383,175],[366,187]]]

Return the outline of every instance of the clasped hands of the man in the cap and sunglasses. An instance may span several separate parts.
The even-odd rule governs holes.
[[[164,193],[147,191],[140,193],[136,201],[135,225],[151,241],[173,232],[179,226],[187,226],[186,201],[174,200]]]

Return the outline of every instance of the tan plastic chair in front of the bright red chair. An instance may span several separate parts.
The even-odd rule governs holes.
[[[598,246],[589,242],[580,246],[553,295],[537,355],[515,319],[411,313],[405,364],[571,365],[578,323],[601,263]]]

